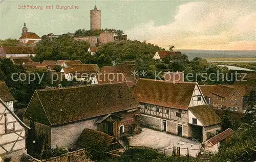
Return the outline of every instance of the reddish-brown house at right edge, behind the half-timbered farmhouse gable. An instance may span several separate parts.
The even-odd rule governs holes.
[[[201,85],[207,103],[215,109],[244,113],[253,87],[246,85]]]

